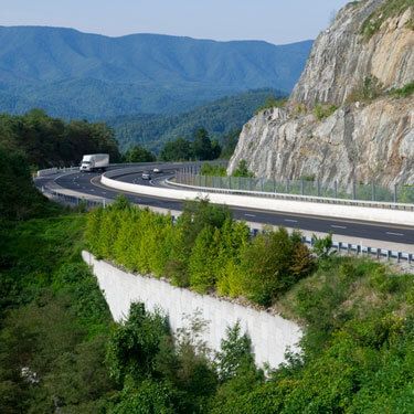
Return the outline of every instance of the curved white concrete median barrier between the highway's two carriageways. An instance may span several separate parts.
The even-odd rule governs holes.
[[[414,225],[414,212],[411,211],[394,211],[341,204],[319,204],[305,201],[222,194],[208,191],[174,190],[121,182],[112,179],[107,173],[103,174],[100,180],[104,185],[116,190],[128,191],[136,194],[153,195],[163,199],[193,200],[195,198],[209,198],[213,203],[231,206],[396,225]]]

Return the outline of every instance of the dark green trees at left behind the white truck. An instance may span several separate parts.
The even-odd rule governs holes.
[[[109,153],[112,162],[120,159],[114,132],[105,124],[66,123],[41,109],[21,116],[1,114],[0,146],[24,155],[36,169],[78,166],[84,153]]]

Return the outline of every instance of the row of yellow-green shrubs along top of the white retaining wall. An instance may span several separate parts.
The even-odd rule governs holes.
[[[173,223],[170,215],[118,199],[89,213],[86,241],[97,257],[131,272],[263,306],[270,306],[315,267],[300,233],[269,229],[251,237],[247,225],[233,220],[227,208],[206,200],[187,202]]]

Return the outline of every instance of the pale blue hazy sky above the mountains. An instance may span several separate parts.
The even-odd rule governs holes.
[[[315,39],[348,0],[0,0],[0,25],[55,25],[118,36]]]

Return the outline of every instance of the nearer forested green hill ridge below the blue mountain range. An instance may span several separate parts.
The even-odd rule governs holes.
[[[107,119],[115,129],[121,149],[134,144],[158,151],[163,142],[178,137],[191,139],[194,131],[205,128],[211,138],[221,140],[238,130],[270,97],[284,94],[274,89],[245,92],[227,96],[180,115],[131,115]]]

